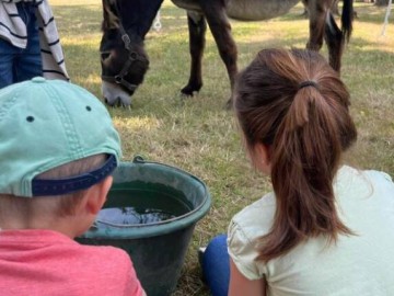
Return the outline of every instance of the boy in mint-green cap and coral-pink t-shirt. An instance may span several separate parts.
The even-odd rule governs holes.
[[[34,78],[0,90],[1,295],[144,295],[126,252],[77,243],[121,156],[103,104]]]

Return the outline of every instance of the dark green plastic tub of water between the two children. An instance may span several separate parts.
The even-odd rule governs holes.
[[[137,207],[157,208],[176,216],[128,225],[121,218],[108,221],[99,215],[95,225],[77,240],[124,249],[131,257],[149,296],[171,295],[195,225],[208,213],[210,203],[206,184],[195,175],[136,157],[115,170],[114,184],[102,213],[108,208]]]

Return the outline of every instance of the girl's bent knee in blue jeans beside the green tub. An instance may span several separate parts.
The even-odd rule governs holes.
[[[204,252],[202,275],[212,296],[228,296],[230,283],[230,258],[227,236],[215,237]]]

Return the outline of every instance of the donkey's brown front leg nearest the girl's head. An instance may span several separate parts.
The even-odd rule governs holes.
[[[234,89],[235,76],[237,73],[236,66],[236,45],[231,35],[231,25],[225,13],[223,1],[205,0],[200,1],[204,14],[207,18],[210,31],[217,43],[219,54],[223,60],[231,86],[231,96],[228,101],[228,107],[232,106],[232,93]]]

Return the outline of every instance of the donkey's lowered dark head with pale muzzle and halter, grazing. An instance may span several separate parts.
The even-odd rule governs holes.
[[[131,95],[149,68],[143,39],[132,29],[126,30],[115,0],[103,0],[103,37],[100,45],[102,93],[108,105],[129,106]]]

